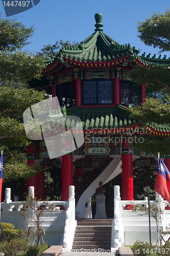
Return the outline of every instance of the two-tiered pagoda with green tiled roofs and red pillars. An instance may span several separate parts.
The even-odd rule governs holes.
[[[53,160],[42,140],[33,141],[28,148],[28,164],[41,161],[44,166],[62,166],[62,200],[68,200],[68,187],[76,188],[76,217],[85,218],[85,204],[103,184],[122,172],[122,199],[133,200],[133,168],[157,165],[154,157],[144,156],[129,146],[131,131],[168,137],[169,126],[148,125],[129,117],[128,106],[145,102],[145,84],[136,86],[128,71],[137,65],[157,67],[169,65],[170,60],[139,56],[130,44],[120,45],[103,32],[102,14],[96,13],[95,32],[80,44],[63,46],[57,57],[48,58],[41,80],[30,85],[52,94],[52,109],[48,115],[51,130],[61,127],[57,117],[56,96],[64,116],[81,119],[84,143],[73,152]],[[73,121],[74,122],[74,121]],[[67,125],[71,129],[72,122]],[[165,157],[170,169],[170,158]],[[74,179],[73,179],[74,175]],[[28,180],[35,187],[35,196],[44,198],[44,173]]]

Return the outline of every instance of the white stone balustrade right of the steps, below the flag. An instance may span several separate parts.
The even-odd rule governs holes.
[[[125,209],[126,205],[142,204],[148,207],[148,198],[145,200],[121,200],[119,186],[114,186],[114,220],[112,221],[112,240],[111,248],[119,246],[133,245],[136,240],[149,242],[149,216],[140,216],[143,212],[133,212],[130,209]],[[158,200],[158,198],[156,198]],[[155,203],[156,201],[150,201]],[[160,199],[160,208],[164,210],[161,215],[160,227],[165,229],[170,223],[170,210],[165,210],[167,202]],[[151,217],[151,242],[156,244],[158,232],[156,230],[156,221]]]

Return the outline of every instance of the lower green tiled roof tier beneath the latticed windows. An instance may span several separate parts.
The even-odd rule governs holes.
[[[127,108],[122,105],[105,108],[79,108],[77,105],[66,110],[67,129],[72,129],[76,125],[74,116],[81,119],[83,130],[118,130],[120,128],[127,129],[140,126],[148,135],[169,137],[170,125],[167,124],[143,124],[142,122],[129,118]],[[71,116],[70,119],[68,116]],[[60,117],[61,118],[61,117]],[[48,125],[57,125],[61,129],[65,129],[64,119],[60,119],[55,112],[49,115]]]

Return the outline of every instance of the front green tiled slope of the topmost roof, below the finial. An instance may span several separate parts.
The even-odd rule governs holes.
[[[60,50],[60,55],[64,59],[90,63],[93,61],[115,61],[126,58],[132,53],[133,48],[130,44],[119,45],[102,31],[96,31],[74,49],[65,47]]]

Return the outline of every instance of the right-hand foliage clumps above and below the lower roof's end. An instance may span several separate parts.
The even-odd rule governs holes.
[[[169,127],[170,103],[168,101],[168,96],[166,97],[167,99],[164,98],[164,100],[156,98],[146,99],[145,104],[140,104],[135,108],[129,108],[128,111],[130,113],[130,117],[141,121],[143,127],[150,125],[155,127],[155,130],[157,130],[156,125],[159,124]],[[135,134],[135,136],[136,139],[133,139],[130,146],[138,147],[141,152],[155,156],[158,152],[165,155],[170,154],[170,141],[168,139],[164,139],[159,136],[152,136],[151,134],[144,135],[144,133],[141,135]],[[140,140],[138,140],[139,138]]]

